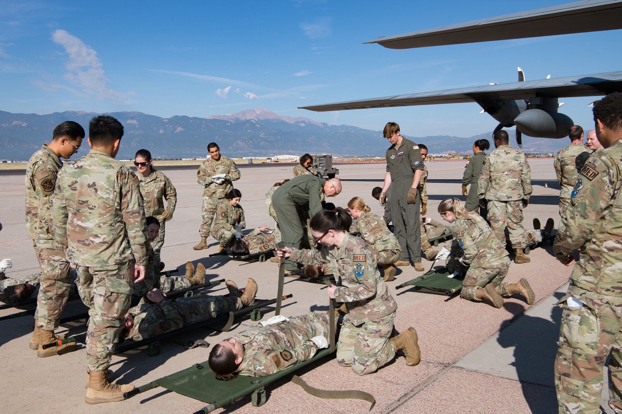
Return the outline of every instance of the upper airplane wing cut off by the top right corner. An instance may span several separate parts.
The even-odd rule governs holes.
[[[379,37],[365,43],[408,49],[613,29],[622,29],[622,0],[584,0]]]

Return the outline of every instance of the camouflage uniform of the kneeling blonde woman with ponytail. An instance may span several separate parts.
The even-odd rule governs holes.
[[[488,283],[498,285],[496,290],[499,295],[510,295],[507,287],[511,283],[503,282],[508,275],[508,252],[481,216],[475,213],[468,218],[456,219],[452,244],[452,250],[460,254],[452,254],[450,260],[458,260],[461,265],[468,266],[460,291],[461,298],[481,300],[475,292]],[[460,249],[457,249],[458,246]]]

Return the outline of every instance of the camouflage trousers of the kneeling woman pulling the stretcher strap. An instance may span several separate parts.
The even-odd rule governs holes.
[[[337,343],[337,363],[342,367],[351,366],[356,374],[365,375],[392,361],[395,349],[389,337],[394,321],[395,312],[354,326],[350,314],[346,314]]]

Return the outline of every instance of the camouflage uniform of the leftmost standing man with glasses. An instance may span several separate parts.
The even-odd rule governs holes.
[[[53,240],[52,200],[63,163],[47,145],[35,152],[26,167],[26,228],[42,270],[35,322],[40,329],[58,326],[69,297],[70,265]]]

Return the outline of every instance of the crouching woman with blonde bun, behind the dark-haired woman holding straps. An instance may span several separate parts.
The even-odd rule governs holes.
[[[371,214],[369,206],[360,197],[348,201],[352,218],[357,219],[358,231],[364,241],[374,246],[376,262],[384,269],[384,282],[395,280],[397,268],[393,265],[399,260],[400,247],[395,235],[389,231],[384,219]]]

